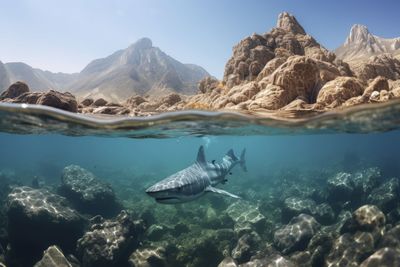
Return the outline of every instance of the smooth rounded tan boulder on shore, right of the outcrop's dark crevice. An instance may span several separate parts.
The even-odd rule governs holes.
[[[317,103],[324,107],[338,107],[346,100],[363,93],[362,83],[352,77],[337,77],[326,83],[319,91]]]

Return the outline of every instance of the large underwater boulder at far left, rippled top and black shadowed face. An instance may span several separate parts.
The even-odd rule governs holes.
[[[8,234],[13,253],[33,265],[51,245],[73,251],[85,221],[65,198],[45,189],[16,187],[7,200]]]

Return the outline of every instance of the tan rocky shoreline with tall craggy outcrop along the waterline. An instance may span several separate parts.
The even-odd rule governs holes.
[[[129,116],[186,109],[327,111],[400,97],[400,61],[386,53],[346,63],[308,35],[294,16],[282,13],[270,32],[253,34],[234,46],[221,81],[206,77],[198,89],[196,95],[133,95],[123,103],[103,98],[79,102],[70,93],[30,92],[17,82],[0,101]]]

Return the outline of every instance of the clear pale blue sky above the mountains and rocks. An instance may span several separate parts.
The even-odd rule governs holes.
[[[400,36],[398,0],[0,0],[0,61],[53,72],[79,72],[90,61],[142,37],[183,63],[222,78],[232,47],[296,16],[328,49],[353,24]]]

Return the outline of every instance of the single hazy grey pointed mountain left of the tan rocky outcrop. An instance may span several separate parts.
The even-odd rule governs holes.
[[[70,88],[82,97],[121,101],[134,94],[194,94],[197,83],[206,76],[209,74],[203,68],[182,64],[153,47],[150,39],[143,38],[89,63]]]

